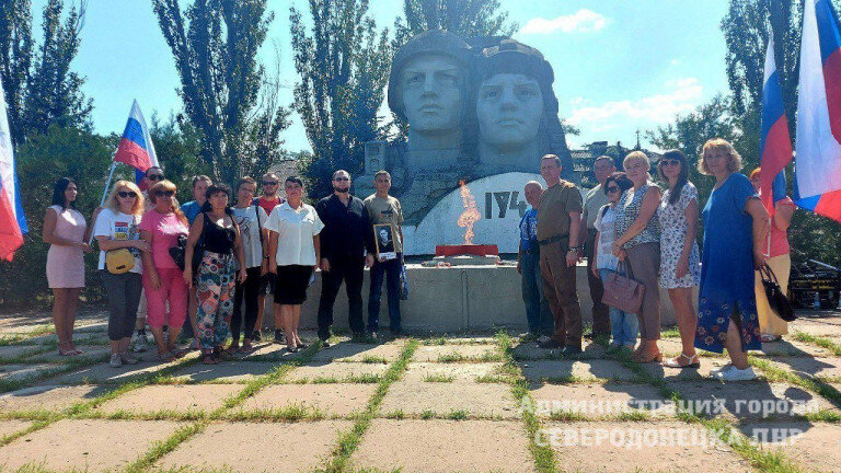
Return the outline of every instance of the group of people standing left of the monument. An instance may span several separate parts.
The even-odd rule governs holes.
[[[74,208],[76,183],[60,178],[43,231],[50,245],[46,269],[55,296],[59,354],[82,353],[73,344],[72,330],[85,285],[83,253],[93,251],[93,240],[100,250],[110,364],[115,368],[138,362],[129,349],[131,337],[136,332],[134,351],[146,350],[147,324],[162,361],[187,351],[177,348],[178,341],[192,339],[191,348],[200,349],[208,365],[234,351],[251,353],[253,343],[262,339],[266,293],[274,298],[274,342],[298,351],[307,346],[298,333],[301,304],[318,268],[323,275],[318,332],[322,344],[330,344],[333,305],[343,281],[355,337],[378,336],[383,279],[389,328],[399,336],[403,215],[400,201],[389,195],[391,175],[378,172],[377,192],[365,200],[350,195],[348,172],[336,171],[332,183],[333,194],[312,207],[303,201],[303,182],[296,176],[283,182],[284,199],[274,173],[263,176],[260,197],[252,177],[241,178],[234,195],[226,184],[198,175],[193,177],[195,200],[178,205],[176,185],[155,166],[140,186],[114,183],[89,227]],[[389,254],[378,251],[375,226],[390,226]],[[367,327],[365,267],[371,269]],[[232,342],[227,344],[229,335]]]

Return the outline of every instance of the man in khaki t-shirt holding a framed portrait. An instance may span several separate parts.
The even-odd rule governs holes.
[[[375,257],[373,266],[371,266],[371,288],[368,293],[368,332],[372,337],[377,337],[384,276],[385,288],[389,292],[389,330],[393,336],[400,336],[402,330],[400,273],[403,270],[403,228],[401,227],[403,224],[403,209],[400,206],[400,200],[389,195],[391,174],[388,171],[378,171],[373,175],[373,186],[377,188],[377,193],[365,199],[365,208],[368,209],[368,216],[371,219],[371,231],[375,231],[376,227],[373,226],[391,224],[391,238],[394,241],[396,257],[385,259],[381,254]],[[375,239],[378,238],[379,235],[375,234]]]

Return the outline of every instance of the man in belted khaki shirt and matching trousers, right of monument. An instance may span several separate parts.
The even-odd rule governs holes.
[[[564,356],[581,353],[581,307],[575,287],[575,270],[580,259],[578,244],[581,223],[581,194],[574,184],[561,180],[561,159],[546,154],[540,160],[540,174],[548,188],[538,207],[538,244],[543,293],[555,319],[552,337],[542,338],[543,348],[563,346]]]

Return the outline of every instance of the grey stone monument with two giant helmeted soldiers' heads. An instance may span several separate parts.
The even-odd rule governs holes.
[[[373,173],[389,171],[406,219],[405,252],[429,254],[463,241],[453,238],[464,234],[457,226],[464,182],[482,217],[475,242],[516,252],[522,186],[540,180],[540,158],[557,154],[563,177],[578,183],[553,81],[543,55],[511,38],[465,42],[440,30],[414,36],[396,53],[388,89],[406,139],[366,143],[356,194],[372,193]]]

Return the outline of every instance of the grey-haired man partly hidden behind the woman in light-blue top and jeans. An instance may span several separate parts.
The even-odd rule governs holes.
[[[596,245],[596,218],[599,216],[599,209],[608,204],[608,195],[604,194],[602,186],[604,181],[611,174],[617,172],[613,164],[613,158],[600,155],[592,162],[592,174],[599,185],[589,189],[584,199],[584,214],[581,215],[581,232],[578,241],[585,242],[584,255],[587,257],[587,282],[590,287],[590,299],[592,299],[592,337],[610,337],[610,311],[601,302],[604,293],[604,287],[601,279],[592,273],[592,265],[596,259],[592,257],[592,251]]]

